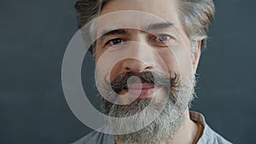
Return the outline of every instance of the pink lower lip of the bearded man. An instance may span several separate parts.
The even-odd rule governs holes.
[[[129,95],[137,98],[152,98],[156,88],[148,89],[127,89],[125,90]]]

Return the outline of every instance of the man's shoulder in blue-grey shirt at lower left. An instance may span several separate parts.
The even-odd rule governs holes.
[[[113,135],[103,134],[98,131],[92,131],[73,144],[111,144],[114,143]]]

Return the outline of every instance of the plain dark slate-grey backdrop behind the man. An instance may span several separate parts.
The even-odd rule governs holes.
[[[77,30],[74,1],[0,1],[0,143],[70,143],[88,129],[69,110],[61,60]],[[234,143],[252,143],[255,113],[255,4],[218,0],[199,68],[193,110]],[[90,60],[90,59],[89,59]],[[93,93],[93,62],[85,91]],[[95,101],[94,95],[90,98]],[[96,104],[97,106],[97,104]]]

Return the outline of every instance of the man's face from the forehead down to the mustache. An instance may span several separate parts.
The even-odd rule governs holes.
[[[159,19],[124,10],[154,14]],[[177,73],[184,77],[195,67],[191,67],[189,37],[179,20],[176,0],[111,0],[100,15],[106,14],[109,16],[99,20],[97,34],[102,37],[96,41],[96,62],[99,76],[109,75],[110,83],[124,72],[161,72],[171,77]],[[136,87],[145,87],[136,96],[152,97],[152,84],[130,86],[131,94],[136,94]]]

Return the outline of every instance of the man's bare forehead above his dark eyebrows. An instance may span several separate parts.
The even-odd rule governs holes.
[[[110,0],[104,4],[98,21],[102,29],[137,28],[168,21],[182,28],[177,0]]]

